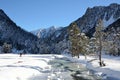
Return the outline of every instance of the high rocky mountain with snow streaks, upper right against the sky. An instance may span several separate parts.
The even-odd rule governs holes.
[[[113,3],[109,6],[95,6],[93,8],[88,8],[85,14],[75,22],[80,27],[82,32],[93,34],[98,19],[102,19],[104,22],[104,27],[107,27],[119,17],[120,5]]]

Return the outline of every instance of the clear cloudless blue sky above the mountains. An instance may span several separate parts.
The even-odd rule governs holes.
[[[0,8],[27,31],[68,26],[88,7],[108,6],[120,0],[0,0]]]

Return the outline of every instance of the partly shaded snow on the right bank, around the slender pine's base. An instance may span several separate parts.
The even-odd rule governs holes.
[[[96,76],[101,76],[103,79],[108,77],[107,80],[120,80],[120,57],[102,55],[102,60],[106,64],[104,67],[99,66],[98,57],[95,56],[87,56],[87,60],[85,60],[85,57],[81,55],[79,59],[75,57],[71,60],[82,63],[94,71]]]

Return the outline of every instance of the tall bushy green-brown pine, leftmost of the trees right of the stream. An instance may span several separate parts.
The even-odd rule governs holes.
[[[80,36],[80,29],[76,25],[76,23],[70,24],[68,28],[68,35],[69,35],[69,41],[70,41],[70,52],[72,56],[78,56],[79,58],[79,53],[80,53],[80,46],[78,44],[79,42],[79,36]]]

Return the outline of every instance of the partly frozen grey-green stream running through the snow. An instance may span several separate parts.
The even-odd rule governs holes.
[[[48,80],[101,80],[82,64],[72,62],[66,57],[55,57],[49,64],[52,69]]]

